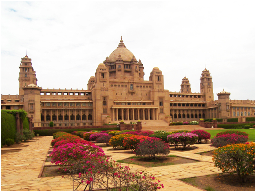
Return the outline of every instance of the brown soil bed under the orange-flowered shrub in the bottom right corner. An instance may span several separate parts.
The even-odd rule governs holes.
[[[208,191],[255,191],[255,175],[249,175],[246,183],[240,183],[238,175],[229,173],[180,180]]]

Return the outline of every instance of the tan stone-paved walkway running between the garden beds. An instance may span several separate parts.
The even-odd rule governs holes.
[[[68,179],[64,179],[62,177],[38,177],[49,151],[52,138],[52,136],[35,137],[32,141],[23,143],[23,145],[28,145],[26,147],[12,148],[13,150],[22,150],[18,152],[4,153],[1,155],[2,191],[73,190],[72,182]],[[200,162],[153,168],[145,168],[137,165],[130,165],[130,167],[132,167],[132,170],[145,170],[156,174],[157,180],[159,179],[161,184],[165,187],[161,189],[161,191],[202,191],[199,188],[177,180],[181,178],[220,173],[220,171],[214,167],[212,157],[194,154],[211,151],[213,148],[210,147],[210,144],[195,146],[198,146],[199,148],[187,152],[171,151],[170,154],[199,160]],[[104,151],[106,155],[111,155],[112,159],[119,160],[133,156],[133,154],[120,153],[122,151],[118,151],[118,153],[117,151],[107,151],[109,148],[104,148]],[[7,148],[1,148],[1,151],[6,149]],[[46,162],[45,164],[47,165],[51,163]]]

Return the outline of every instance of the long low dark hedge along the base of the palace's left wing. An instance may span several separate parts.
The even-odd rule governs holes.
[[[35,135],[39,134],[40,136],[52,136],[53,133],[56,133],[58,131],[72,133],[73,131],[91,131],[91,130],[107,131],[107,130],[120,130],[120,128],[115,127],[115,128],[87,128],[87,129],[45,129],[45,130],[33,130],[33,131],[35,132]]]

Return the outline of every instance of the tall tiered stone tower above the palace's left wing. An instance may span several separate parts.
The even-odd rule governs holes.
[[[34,85],[37,85],[38,79],[36,79],[35,71],[31,63],[31,59],[27,55],[21,58],[21,63],[19,68],[20,68],[19,95],[24,95],[24,90],[22,89],[22,87],[25,87],[31,83]]]

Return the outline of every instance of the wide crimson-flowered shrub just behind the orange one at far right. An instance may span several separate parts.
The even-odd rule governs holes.
[[[235,133],[220,135],[218,137],[214,137],[211,140],[211,146],[214,147],[222,147],[227,144],[238,144],[245,143],[248,141],[248,136],[245,135],[236,135]]]

